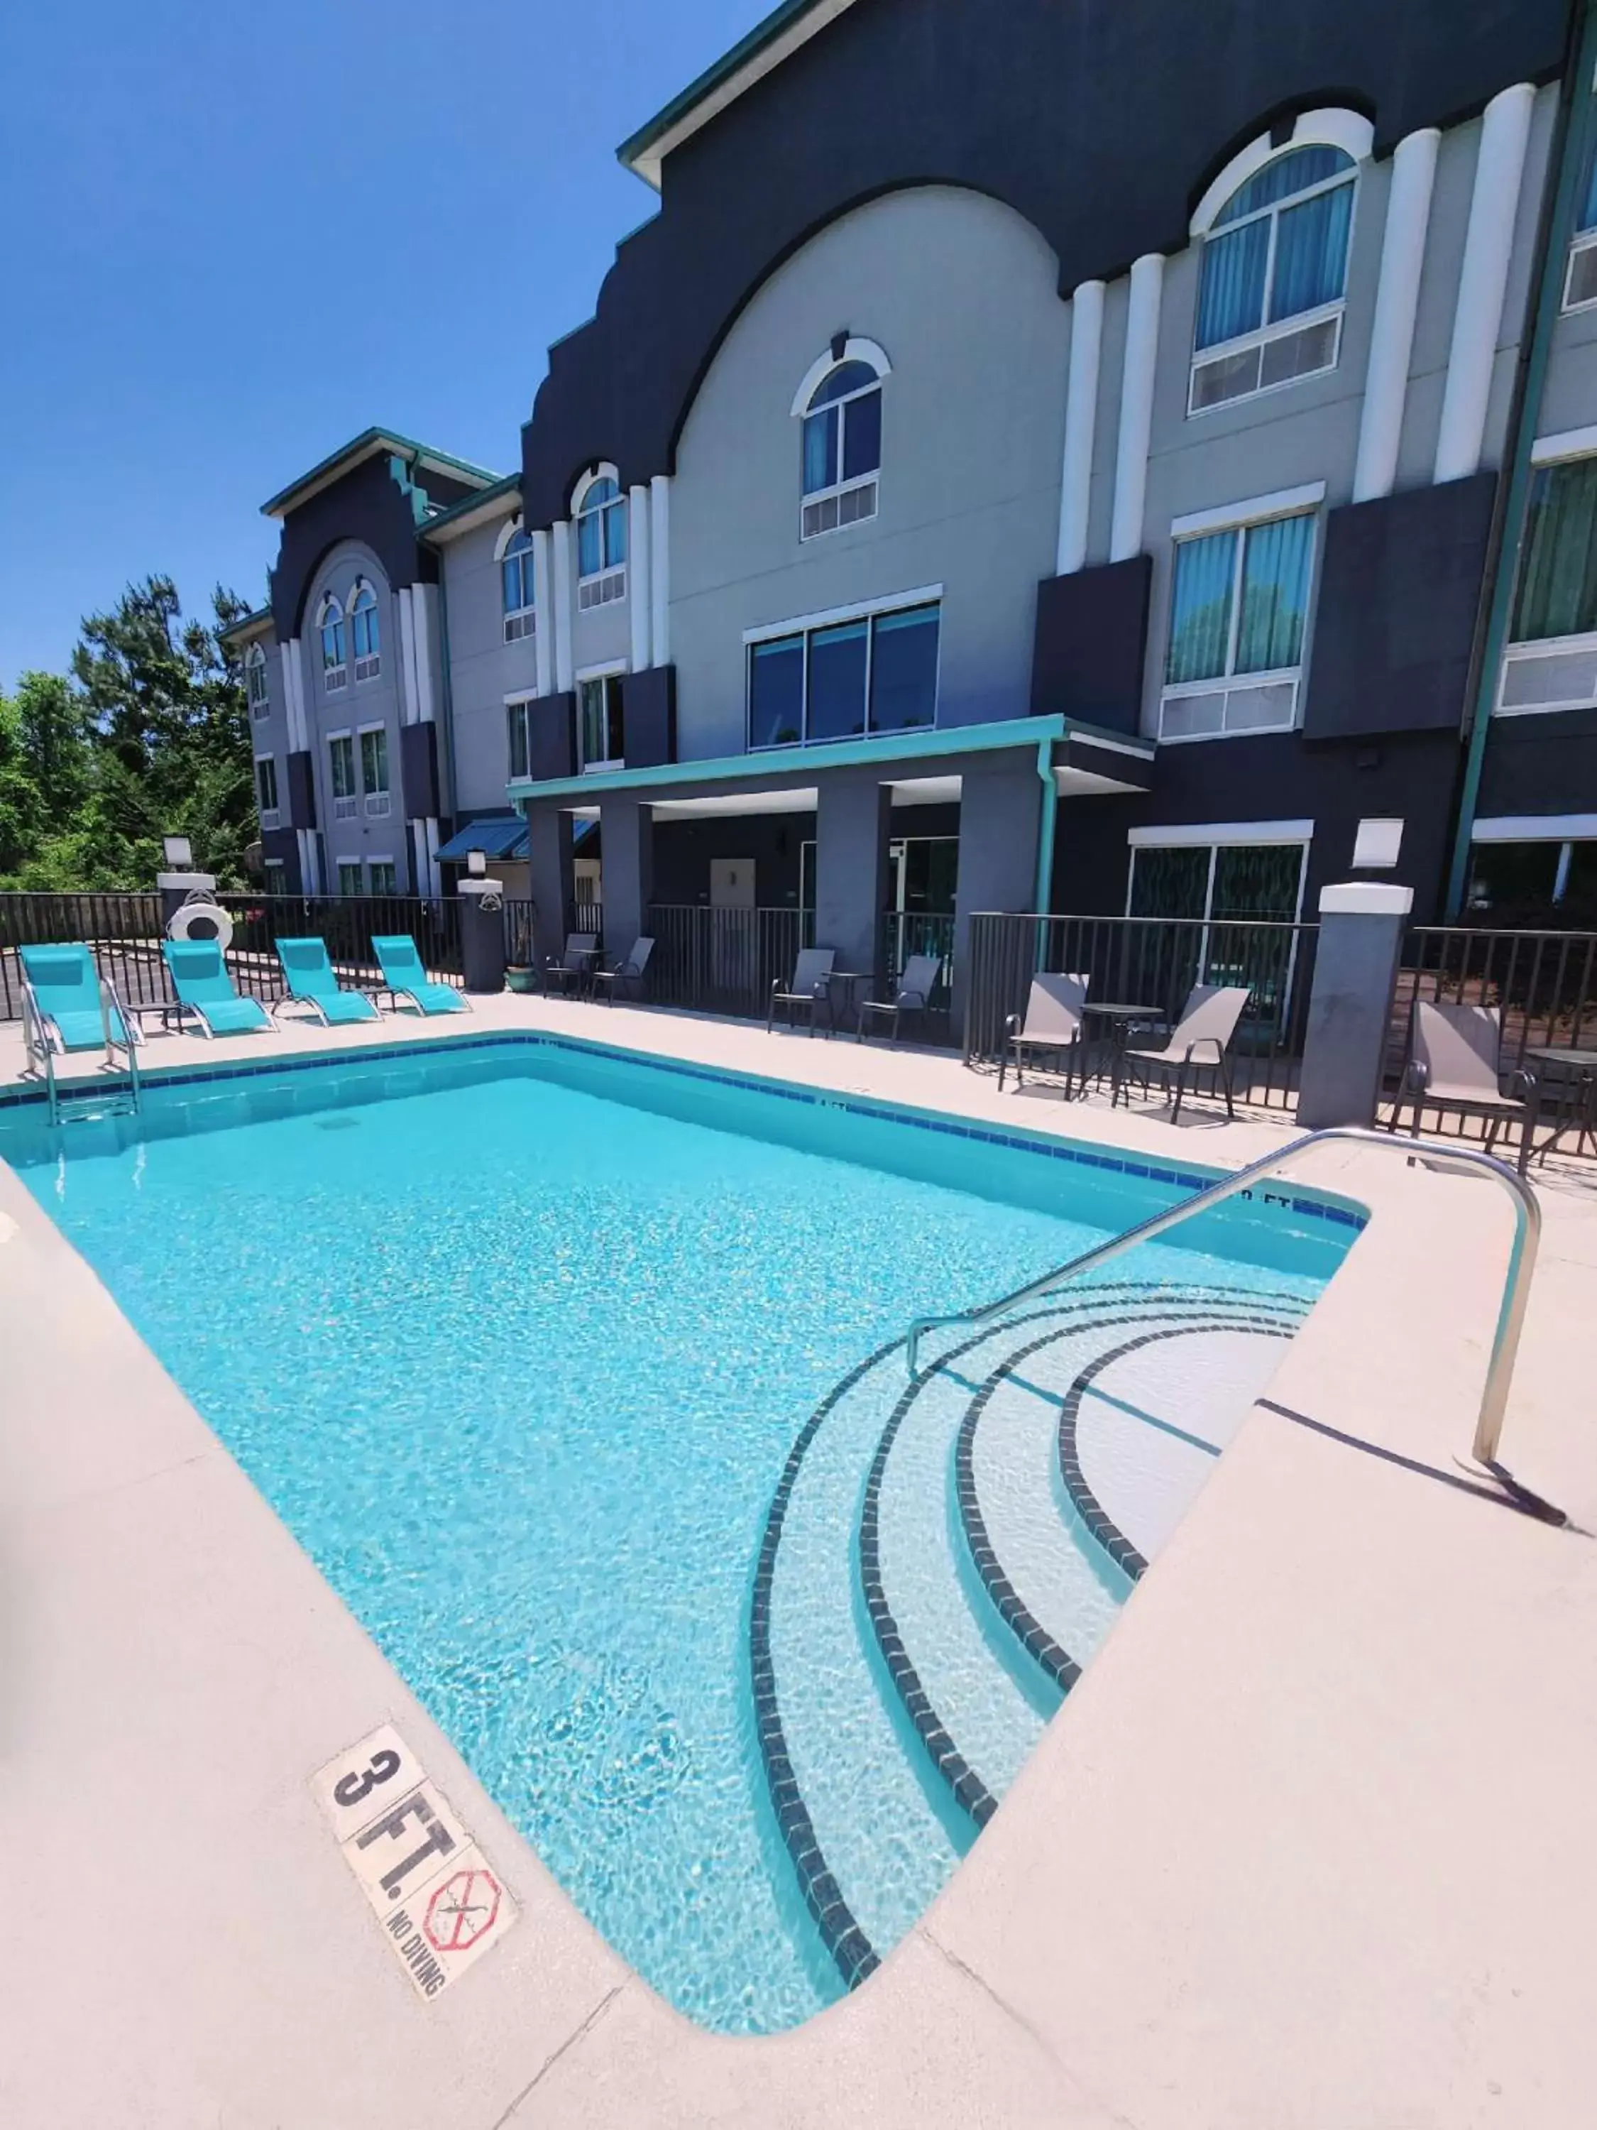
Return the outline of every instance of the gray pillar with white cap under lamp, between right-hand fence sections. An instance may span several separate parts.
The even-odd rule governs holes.
[[[1386,1065],[1393,986],[1414,890],[1356,880],[1320,890],[1320,946],[1314,956],[1310,1022],[1297,1120],[1373,1125]]]

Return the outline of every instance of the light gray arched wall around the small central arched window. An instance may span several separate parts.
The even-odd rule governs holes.
[[[879,515],[798,539],[790,407],[835,332],[892,362]],[[743,630],[943,586],[939,722],[1024,716],[1052,575],[1069,315],[1011,209],[922,187],[805,245],[732,326],[671,494],[671,652],[684,758],[743,750]],[[624,652],[624,641],[618,656]],[[590,658],[581,637],[577,665]]]

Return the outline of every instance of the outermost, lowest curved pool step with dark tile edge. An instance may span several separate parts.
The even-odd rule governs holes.
[[[847,1987],[873,1972],[960,1855],[877,1691],[854,1602],[860,1489],[901,1384],[894,1342],[811,1414],[771,1502],[750,1602],[771,1806]]]

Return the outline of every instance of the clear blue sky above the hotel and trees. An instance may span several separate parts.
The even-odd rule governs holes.
[[[371,424],[500,473],[654,211],[615,143],[769,0],[34,0],[0,81],[0,686]]]

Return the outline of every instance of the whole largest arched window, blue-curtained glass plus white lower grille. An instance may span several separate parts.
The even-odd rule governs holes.
[[[1335,368],[1354,183],[1352,155],[1312,141],[1256,168],[1214,215],[1188,413]]]

